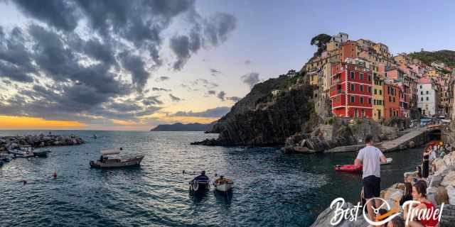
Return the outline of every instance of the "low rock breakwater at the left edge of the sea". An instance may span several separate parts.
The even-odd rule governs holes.
[[[12,150],[22,145],[31,145],[34,148],[45,146],[80,145],[85,143],[77,135],[14,135],[0,137],[0,151]]]

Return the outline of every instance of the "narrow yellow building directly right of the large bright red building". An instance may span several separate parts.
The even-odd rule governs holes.
[[[378,66],[373,65],[373,119],[384,118],[384,77],[378,73]]]

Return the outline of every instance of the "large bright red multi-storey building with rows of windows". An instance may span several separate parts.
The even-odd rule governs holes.
[[[372,118],[372,90],[371,70],[344,62],[333,65],[330,89],[333,115]]]

